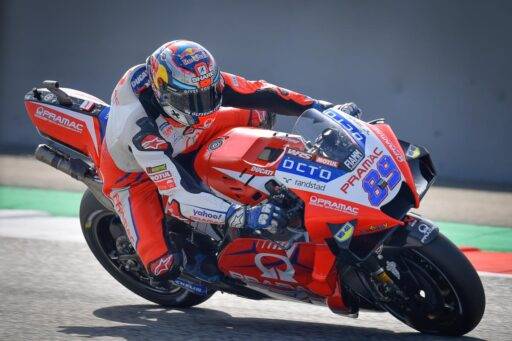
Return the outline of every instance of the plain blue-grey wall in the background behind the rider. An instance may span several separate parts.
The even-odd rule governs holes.
[[[108,100],[129,66],[165,41],[188,38],[226,71],[386,117],[401,138],[429,147],[441,179],[512,184],[511,1],[0,6],[0,151],[37,143],[22,100],[39,81]]]

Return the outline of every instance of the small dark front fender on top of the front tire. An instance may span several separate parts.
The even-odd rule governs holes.
[[[417,214],[409,213],[403,221],[405,225],[396,228],[393,235],[386,240],[385,247],[422,247],[430,244],[439,235],[437,225]]]

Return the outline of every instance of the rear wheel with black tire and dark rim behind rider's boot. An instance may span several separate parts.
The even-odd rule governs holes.
[[[119,283],[135,294],[165,307],[192,307],[213,295],[199,296],[179,286],[162,288],[150,278],[130,245],[115,213],[101,205],[87,190],[80,204],[80,225],[89,249]]]

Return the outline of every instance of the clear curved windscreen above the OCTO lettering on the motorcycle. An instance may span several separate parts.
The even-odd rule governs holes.
[[[343,124],[348,125],[350,122],[336,111],[327,115],[309,109],[297,119],[292,133],[303,137],[308,152],[353,170],[364,158],[364,148],[354,139],[353,134],[343,128]]]

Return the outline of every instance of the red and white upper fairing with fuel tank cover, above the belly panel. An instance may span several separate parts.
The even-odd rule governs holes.
[[[326,228],[326,221],[344,223],[357,220],[355,235],[401,225],[401,221],[380,210],[395,198],[402,182],[411,188],[416,206],[419,203],[411,171],[398,140],[386,124],[372,125],[339,113],[358,128],[358,133],[364,134],[365,156],[352,171],[333,180],[322,182],[313,179],[308,176],[308,168],[304,174],[283,170],[279,165],[289,153],[300,157],[302,151],[309,165],[315,164],[313,162],[318,157],[306,152],[304,140],[298,135],[256,128],[234,128],[219,134],[210,145],[199,151],[196,171],[217,195],[242,204],[256,204],[264,200],[268,194],[265,183],[275,179],[293,190],[306,204],[306,226],[312,237],[321,239],[324,232],[327,233],[319,232]],[[269,153],[274,157],[269,158],[266,155]],[[383,157],[394,161],[400,170],[400,180],[393,188],[388,186],[384,200],[372,205],[363,188],[363,179],[372,170],[378,171],[378,162]],[[318,161],[321,161],[316,162],[318,165],[329,163],[325,159]]]

